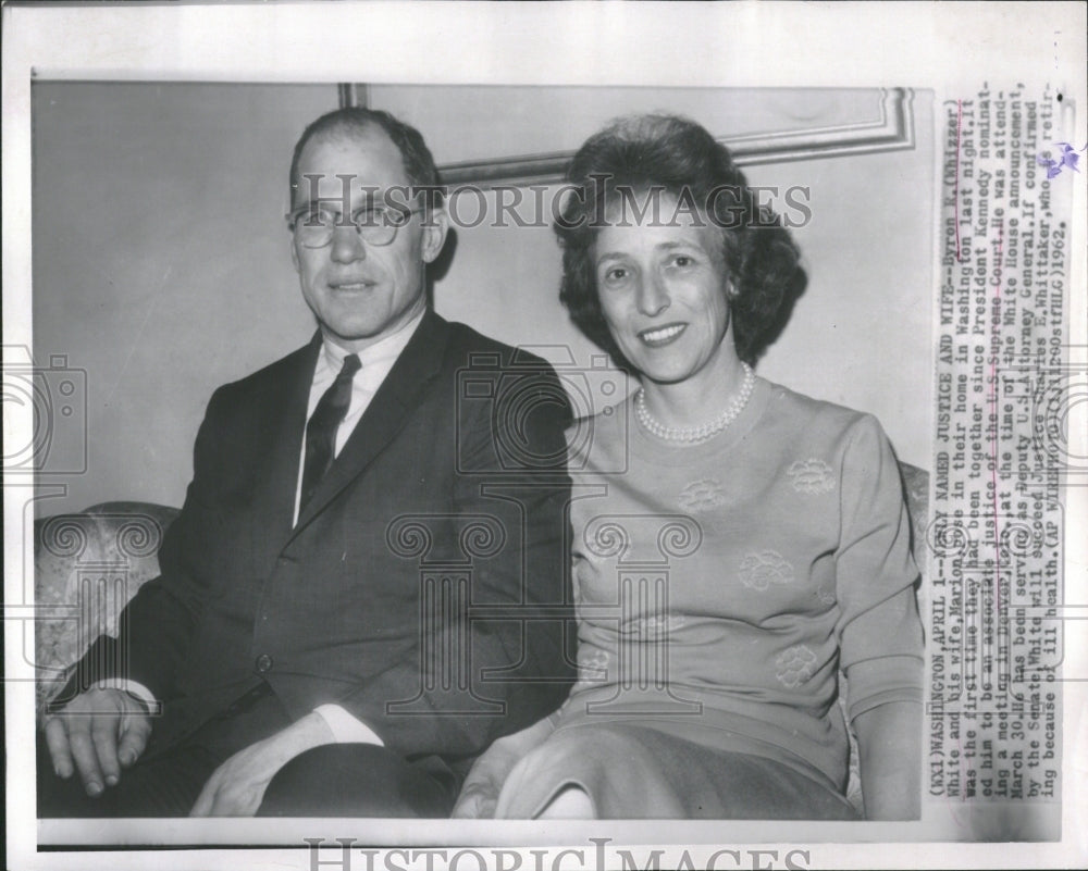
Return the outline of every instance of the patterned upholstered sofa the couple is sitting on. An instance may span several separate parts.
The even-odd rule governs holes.
[[[914,557],[926,567],[929,473],[900,463],[911,515]],[[36,701],[39,719],[71,667],[101,633],[115,635],[118,614],[159,573],[158,550],[178,509],[150,502],[102,502],[34,524]],[[926,582],[919,588],[923,606]],[[856,747],[851,736],[848,797],[861,808]]]

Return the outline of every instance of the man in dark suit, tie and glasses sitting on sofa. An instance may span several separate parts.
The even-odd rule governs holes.
[[[417,130],[330,113],[290,184],[320,329],[212,396],[161,576],[47,719],[42,817],[446,816],[569,688],[555,373],[428,309]]]

